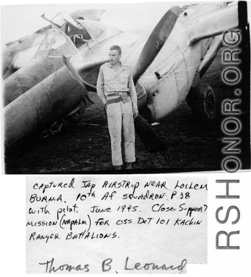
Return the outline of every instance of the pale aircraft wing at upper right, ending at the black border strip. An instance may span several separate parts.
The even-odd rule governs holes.
[[[190,45],[194,45],[202,39],[223,34],[226,30],[237,28],[239,24],[238,5],[214,10],[199,17],[196,21]]]

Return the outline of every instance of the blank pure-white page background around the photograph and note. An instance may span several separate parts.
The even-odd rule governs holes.
[[[67,1],[53,1],[54,3],[67,3]],[[84,1],[74,1],[84,3]],[[96,3],[101,1],[96,0]],[[118,2],[118,1],[103,1]],[[124,1],[125,2],[125,1]],[[127,1],[129,2],[129,1]],[[130,1],[133,2],[133,1]],[[148,2],[137,0],[135,2]],[[22,1],[22,4],[33,4],[31,1]],[[36,1],[36,3],[49,3],[49,1]],[[17,1],[1,1],[3,4],[20,4]],[[13,22],[18,25],[18,22]],[[2,43],[2,42],[1,42]],[[3,160],[3,153],[2,153]],[[169,174],[169,176],[180,174]],[[198,173],[183,174],[184,176],[208,176],[208,264],[188,265],[187,276],[250,276],[250,179],[251,173]],[[25,275],[25,176],[2,175],[1,177],[1,253],[3,276]],[[239,184],[230,184],[230,194],[240,195],[240,199],[215,199],[215,195],[225,192],[224,184],[216,184],[216,179],[239,179]],[[226,209],[235,205],[240,210],[240,220],[236,225],[231,221],[236,219],[234,211],[230,212],[226,224],[219,224],[215,220],[215,211],[223,206]],[[223,218],[221,218],[223,219]],[[218,231],[240,230],[239,235],[231,236],[232,245],[239,245],[239,250],[216,250],[215,235]]]

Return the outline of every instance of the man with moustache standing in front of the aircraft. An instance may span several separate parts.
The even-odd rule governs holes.
[[[133,117],[138,116],[137,94],[129,66],[120,62],[121,48],[110,48],[110,63],[100,67],[97,79],[97,95],[104,103],[111,136],[112,164],[116,170],[122,168],[121,126],[125,140],[126,169],[132,169],[135,162],[135,131]]]

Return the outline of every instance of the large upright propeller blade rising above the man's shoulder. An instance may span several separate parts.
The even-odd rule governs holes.
[[[167,38],[176,23],[179,13],[179,6],[172,7],[165,13],[165,15],[152,31],[145,46],[143,47],[142,52],[140,53],[138,62],[132,73],[134,84],[137,83],[140,76],[146,71],[148,66],[150,66],[156,55],[161,50],[162,46],[167,41]]]

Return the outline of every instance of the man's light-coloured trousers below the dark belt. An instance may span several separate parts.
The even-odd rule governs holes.
[[[109,99],[117,96],[109,97]],[[111,137],[112,164],[122,165],[121,155],[121,128],[123,124],[123,133],[125,141],[125,161],[127,163],[135,162],[135,131],[132,114],[132,101],[112,103],[107,105],[108,128]]]

